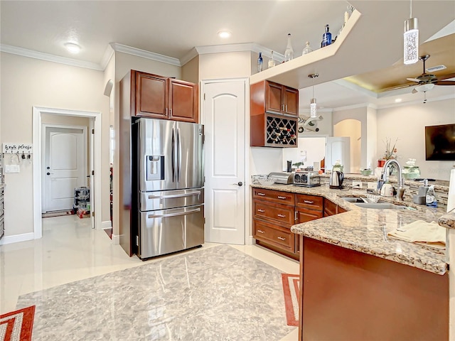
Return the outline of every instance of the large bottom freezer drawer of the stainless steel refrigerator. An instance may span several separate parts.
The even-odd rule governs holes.
[[[140,259],[197,247],[204,242],[204,205],[139,212]]]

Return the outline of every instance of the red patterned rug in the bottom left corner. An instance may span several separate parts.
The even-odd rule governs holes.
[[[0,341],[30,341],[35,305],[0,315]]]

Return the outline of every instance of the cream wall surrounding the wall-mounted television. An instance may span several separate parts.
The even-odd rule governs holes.
[[[386,138],[398,139],[398,162],[415,158],[422,178],[449,180],[455,161],[425,161],[424,126],[455,123],[455,99],[378,109],[378,151]]]

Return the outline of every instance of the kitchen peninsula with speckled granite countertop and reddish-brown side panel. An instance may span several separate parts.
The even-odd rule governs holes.
[[[438,221],[443,208],[405,202],[415,210],[378,210],[341,199],[365,190],[252,187],[315,195],[346,210],[291,227],[300,245],[299,340],[448,340],[445,251],[387,236],[416,220]]]

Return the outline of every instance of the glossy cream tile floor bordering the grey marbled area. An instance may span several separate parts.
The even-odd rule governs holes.
[[[216,245],[206,243],[204,247]],[[284,273],[299,273],[296,261],[271,251],[255,245],[232,247]],[[168,257],[173,256],[176,255]],[[43,238],[0,247],[0,313],[15,310],[18,296],[25,293],[153,261],[143,262],[136,256],[130,258],[122,247],[111,243],[104,231],[91,229],[88,219],[79,219],[75,215],[45,218]],[[297,338],[295,328],[282,340]]]

